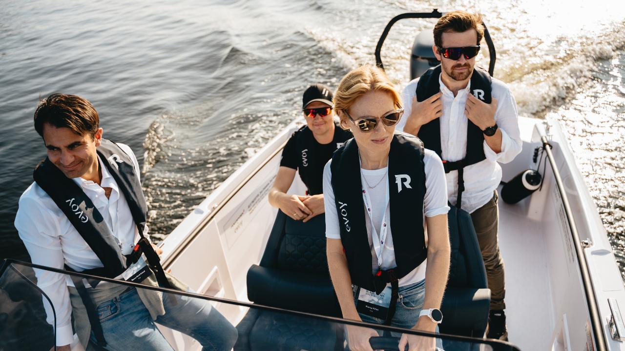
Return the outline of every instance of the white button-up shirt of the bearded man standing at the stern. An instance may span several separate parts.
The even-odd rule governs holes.
[[[406,121],[412,111],[412,97],[416,96],[419,78],[409,82],[401,94],[404,107],[404,117],[397,124],[397,130],[403,131]],[[466,156],[467,124],[464,114],[464,104],[471,94],[471,82],[456,96],[447,89],[439,77],[441,85],[441,149],[442,159],[446,161],[460,161]],[[464,167],[464,192],[462,192],[462,209],[469,213],[482,207],[492,198],[492,193],[501,182],[501,166],[497,162],[512,161],[521,152],[522,141],[519,131],[519,117],[516,101],[504,82],[492,78],[491,95],[497,99],[495,122],[501,130],[501,152],[492,151],[484,141],[484,155],[486,159],[471,166]],[[447,199],[452,205],[456,204],[458,194],[458,171],[446,174]]]

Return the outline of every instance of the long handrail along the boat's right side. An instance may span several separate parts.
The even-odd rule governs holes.
[[[592,332],[595,336],[594,340],[597,347],[596,350],[605,351],[607,350],[606,335],[603,333],[601,316],[599,316],[599,309],[597,309],[597,297],[594,294],[594,288],[592,287],[592,280],[590,278],[586,254],[584,253],[581,241],[579,240],[579,233],[577,232],[577,226],[575,224],[575,220],[573,219],[571,204],[569,204],[569,198],[567,197],[566,190],[564,189],[564,182],[562,182],[560,172],[557,169],[556,159],[553,157],[553,154],[551,152],[552,146],[551,144],[549,144],[549,141],[547,141],[546,136],[542,136],[541,141],[542,149],[547,152],[547,158],[549,159],[549,164],[551,164],[553,177],[556,180],[557,190],[560,193],[560,197],[562,199],[562,205],[564,207],[564,213],[566,214],[566,220],[569,224],[569,228],[571,229],[573,245],[575,246],[575,252],[577,254],[577,264],[579,265],[579,271],[582,275],[584,292],[586,292],[586,303],[588,305],[588,312],[590,314]]]

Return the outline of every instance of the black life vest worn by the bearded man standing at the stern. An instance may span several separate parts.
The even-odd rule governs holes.
[[[441,65],[428,69],[417,82],[417,101],[424,101],[441,91],[439,77],[441,76]],[[478,99],[491,103],[491,76],[488,72],[479,67],[475,67],[471,74],[471,94]],[[459,161],[447,161],[442,157],[441,147],[441,121],[440,118],[424,124],[419,129],[417,136],[427,149],[430,149],[442,160],[445,173],[458,171],[458,194],[456,207],[459,209],[462,204],[462,192],[464,191],[464,167],[471,166],[486,159],[484,154],[484,132],[471,120],[467,120],[467,149],[464,159]]]

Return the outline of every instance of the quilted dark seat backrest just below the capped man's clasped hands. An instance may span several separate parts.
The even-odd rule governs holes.
[[[278,210],[260,265],[328,275],[325,215],[316,215],[304,223]]]

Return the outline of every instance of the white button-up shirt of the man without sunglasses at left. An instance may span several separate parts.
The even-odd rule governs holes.
[[[130,147],[118,144],[133,159],[134,169],[139,176],[139,163]],[[84,193],[102,214],[104,221],[113,233],[123,254],[129,254],[139,234],[134,224],[128,202],[118,184],[98,157],[102,171],[101,185],[74,178]],[[111,195],[106,198],[103,187],[110,187]],[[19,199],[19,209],[15,218],[15,227],[19,237],[26,245],[33,264],[64,269],[67,264],[71,269],[82,271],[103,267],[98,256],[91,250],[78,230],[69,222],[54,200],[33,182]],[[148,233],[146,228],[145,234]],[[71,304],[67,285],[73,286],[68,275],[35,270],[37,286],[52,300],[56,310],[56,345],[63,346],[73,342],[71,325]],[[47,322],[53,324],[54,317],[47,300],[44,299]]]

